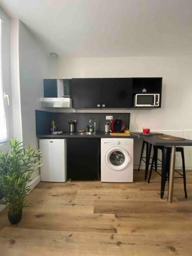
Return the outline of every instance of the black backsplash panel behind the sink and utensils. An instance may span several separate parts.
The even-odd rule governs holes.
[[[76,132],[79,130],[85,130],[87,125],[94,125],[94,122],[90,123],[89,120],[94,118],[96,121],[96,129],[99,132],[104,132],[106,116],[113,116],[113,119],[122,119],[125,123],[125,127],[130,127],[130,113],[50,113],[45,111],[35,111],[36,113],[36,134],[49,134],[50,124],[52,120],[55,120],[57,131],[69,132],[69,119],[76,119]],[[46,126],[46,127],[45,127]]]

